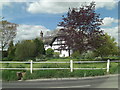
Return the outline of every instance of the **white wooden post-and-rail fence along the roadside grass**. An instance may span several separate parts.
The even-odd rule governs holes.
[[[58,69],[69,69],[71,72],[73,70],[97,70],[97,69],[106,69],[107,73],[109,73],[110,69],[110,60],[107,61],[73,61],[70,60],[70,62],[33,62],[32,60],[30,62],[7,62],[7,61],[1,61],[0,63],[29,63],[30,68],[0,68],[0,70],[30,70],[30,73],[33,73],[33,70],[58,70]],[[33,68],[34,63],[69,63],[70,68]],[[74,63],[106,63],[106,68],[74,68]]]

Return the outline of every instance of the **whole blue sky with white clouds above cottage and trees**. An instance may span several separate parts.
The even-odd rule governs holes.
[[[11,2],[12,1],[12,2]],[[96,13],[103,19],[101,29],[114,37],[118,42],[118,0],[94,0]],[[33,39],[43,31],[58,28],[57,24],[62,21],[62,15],[66,15],[68,8],[81,7],[89,4],[91,0],[1,0],[0,14],[5,20],[18,24],[18,40]]]

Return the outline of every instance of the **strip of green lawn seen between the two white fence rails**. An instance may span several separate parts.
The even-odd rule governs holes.
[[[110,63],[110,67],[115,67],[117,66],[118,63],[112,62]],[[3,68],[30,68],[30,64],[29,63],[24,63],[24,64],[16,64],[16,63],[10,63],[10,64],[2,64],[0,65]],[[73,64],[74,68],[82,68],[82,67],[86,67],[86,68],[106,68],[107,63],[74,63]],[[69,68],[70,64],[66,63],[66,64],[62,64],[62,63],[43,63],[43,64],[39,64],[39,63],[34,63],[33,64],[33,68],[54,68],[54,67],[63,67],[63,68]]]

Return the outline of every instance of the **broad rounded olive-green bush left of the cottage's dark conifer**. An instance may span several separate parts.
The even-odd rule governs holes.
[[[30,59],[35,57],[35,43],[32,40],[24,40],[16,45],[16,59]]]

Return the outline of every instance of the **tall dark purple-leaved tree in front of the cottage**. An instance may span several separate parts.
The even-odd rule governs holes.
[[[95,5],[95,2],[91,2],[90,5],[80,8],[69,8],[67,14],[62,16],[63,21],[59,22],[58,26],[62,27],[61,36],[70,49],[82,53],[104,44],[104,40],[99,39],[100,36],[104,36],[100,30],[103,19],[100,18],[100,14],[95,13]]]

